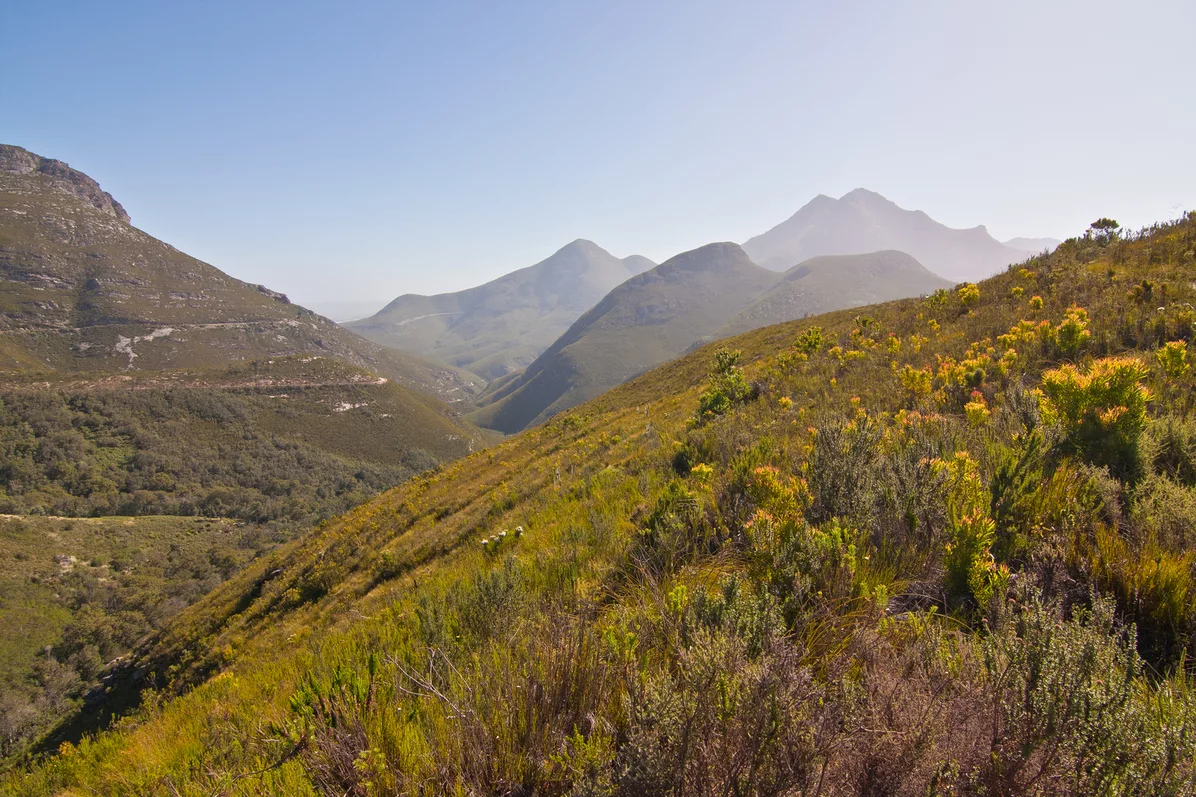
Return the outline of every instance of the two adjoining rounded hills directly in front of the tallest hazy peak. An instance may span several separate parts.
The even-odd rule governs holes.
[[[899,251],[817,257],[777,278],[733,243],[708,244],[611,291],[470,419],[517,432],[694,346],[758,327],[951,284]]]

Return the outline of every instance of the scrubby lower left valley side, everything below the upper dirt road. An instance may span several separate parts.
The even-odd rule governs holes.
[[[325,358],[4,388],[4,754],[118,708],[127,655],[252,556],[492,437]]]

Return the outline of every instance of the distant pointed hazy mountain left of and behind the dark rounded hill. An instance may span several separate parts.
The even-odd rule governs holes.
[[[655,266],[578,239],[551,257],[456,293],[398,297],[346,324],[370,340],[496,379],[532,363],[616,285]]]

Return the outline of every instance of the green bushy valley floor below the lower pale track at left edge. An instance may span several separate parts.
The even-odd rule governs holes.
[[[145,673],[123,655],[286,539],[203,517],[0,517],[0,755],[128,708]]]

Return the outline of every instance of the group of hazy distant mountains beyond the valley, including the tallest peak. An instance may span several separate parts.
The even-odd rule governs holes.
[[[710,244],[652,269],[647,258],[620,260],[575,241],[486,285],[401,296],[347,326],[487,379],[471,418],[511,433],[695,345],[930,293],[1055,245],[1048,238],[1003,244],[983,226],[953,230],[856,189],[838,200],[817,196],[743,247]]]

